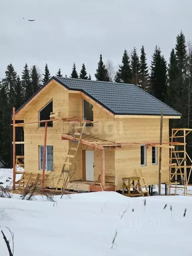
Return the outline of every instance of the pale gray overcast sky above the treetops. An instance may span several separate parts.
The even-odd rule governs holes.
[[[0,0],[0,77],[10,62],[18,74],[47,62],[51,75],[60,67],[67,76],[84,62],[95,79],[100,53],[118,65],[142,44],[148,62],[156,44],[168,60],[181,29],[192,40],[191,10],[191,0]]]

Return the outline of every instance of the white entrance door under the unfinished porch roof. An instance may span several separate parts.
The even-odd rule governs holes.
[[[85,178],[94,181],[94,150],[85,150]]]

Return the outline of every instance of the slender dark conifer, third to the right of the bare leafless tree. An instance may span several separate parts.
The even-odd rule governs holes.
[[[147,66],[147,58],[143,45],[140,56],[139,87],[144,91],[147,91],[149,88],[149,68]]]

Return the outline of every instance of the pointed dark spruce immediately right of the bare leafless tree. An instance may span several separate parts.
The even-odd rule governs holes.
[[[132,70],[127,50],[124,50],[122,64],[119,65],[119,70],[115,75],[115,82],[125,84],[130,84],[132,82]]]

